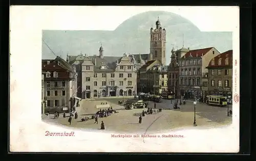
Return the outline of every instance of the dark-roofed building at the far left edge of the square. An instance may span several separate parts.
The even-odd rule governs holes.
[[[70,110],[73,107],[71,97],[76,97],[75,67],[57,56],[54,60],[42,60],[42,72],[47,110],[62,107]]]

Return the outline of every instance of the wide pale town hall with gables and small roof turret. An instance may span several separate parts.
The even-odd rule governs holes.
[[[81,54],[68,56],[67,60],[79,69],[77,83],[82,99],[134,96],[137,93],[137,68],[133,55],[104,56],[101,45],[98,56]]]

